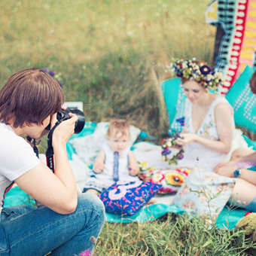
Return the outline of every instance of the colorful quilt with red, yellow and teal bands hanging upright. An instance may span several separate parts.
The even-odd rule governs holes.
[[[256,0],[215,0],[206,8],[206,23],[224,30],[216,67],[225,75],[220,93],[226,94],[245,66],[256,68]]]

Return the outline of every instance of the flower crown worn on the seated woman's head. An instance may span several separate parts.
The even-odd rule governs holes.
[[[167,66],[169,72],[178,78],[195,80],[204,88],[213,90],[224,82],[221,72],[216,72],[206,65],[206,62],[197,62],[192,60],[173,59],[173,62]]]

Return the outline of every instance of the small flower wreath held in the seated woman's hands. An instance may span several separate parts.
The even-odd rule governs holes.
[[[184,149],[180,148],[180,150],[178,151],[177,154],[174,154],[172,156],[172,158],[167,157],[169,154],[172,153],[172,151],[170,150],[170,148],[172,148],[172,146],[176,145],[176,140],[179,137],[179,134],[173,134],[172,136],[170,136],[169,139],[163,139],[163,141],[161,142],[162,144],[162,158],[164,161],[168,162],[169,165],[172,164],[177,164],[178,160],[181,160],[184,155]]]

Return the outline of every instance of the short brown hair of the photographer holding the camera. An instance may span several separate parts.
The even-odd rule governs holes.
[[[65,102],[59,83],[41,69],[23,69],[8,79],[0,90],[0,121],[14,127],[42,123]]]

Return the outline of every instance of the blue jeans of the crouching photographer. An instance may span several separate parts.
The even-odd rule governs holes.
[[[72,214],[47,207],[14,206],[2,209],[0,256],[79,255],[93,251],[105,221],[105,207],[94,194],[79,194]]]

